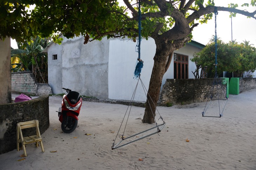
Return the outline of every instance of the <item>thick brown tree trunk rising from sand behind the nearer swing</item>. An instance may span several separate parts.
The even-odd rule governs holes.
[[[174,50],[170,49],[170,45],[165,43],[157,44],[156,42],[156,54],[154,57],[154,66],[149,82],[148,95],[145,113],[142,122],[143,123],[155,123],[155,111],[157,101],[159,99],[161,84],[163,75],[166,72],[166,64],[170,53]]]

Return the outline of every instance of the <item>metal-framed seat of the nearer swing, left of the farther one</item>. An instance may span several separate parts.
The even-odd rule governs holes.
[[[116,148],[124,147],[124,146],[129,145],[130,143],[133,143],[133,142],[137,141],[137,140],[141,140],[141,139],[147,138],[148,136],[151,136],[153,134],[159,133],[159,132],[162,131],[165,124],[166,123],[164,122],[161,125],[152,127],[152,128],[150,128],[146,131],[137,133],[137,134],[129,136],[129,137],[123,137],[122,136],[121,141],[118,142],[116,145],[113,143],[113,146],[111,148],[113,150],[113,149],[116,149]]]

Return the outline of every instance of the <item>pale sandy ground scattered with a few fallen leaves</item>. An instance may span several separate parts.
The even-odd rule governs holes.
[[[42,134],[45,152],[30,144],[23,161],[18,161],[23,150],[1,154],[1,170],[256,169],[256,89],[230,95],[221,118],[202,117],[205,103],[157,107],[167,123],[162,132],[114,150],[126,105],[83,102],[79,127],[65,134],[55,112],[60,104],[61,98],[49,97],[50,126]],[[132,107],[126,133],[155,126],[137,119],[143,114],[144,108]]]

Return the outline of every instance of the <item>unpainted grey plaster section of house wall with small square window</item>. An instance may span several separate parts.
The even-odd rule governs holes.
[[[81,95],[108,98],[109,40],[106,38],[83,44],[83,37],[67,39],[48,48],[48,81],[54,94],[64,93],[61,87]],[[58,59],[53,60],[52,55]]]

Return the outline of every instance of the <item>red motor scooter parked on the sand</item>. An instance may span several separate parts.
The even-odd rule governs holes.
[[[66,90],[68,94],[63,96],[58,116],[61,122],[62,131],[64,133],[71,133],[78,125],[78,115],[82,106],[82,98],[76,91],[63,87],[62,89]]]

